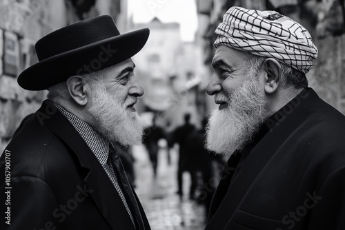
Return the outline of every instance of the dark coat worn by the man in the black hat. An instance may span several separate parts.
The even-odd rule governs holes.
[[[7,206],[6,156],[11,187]],[[6,229],[134,229],[95,154],[50,103],[43,102],[28,118],[0,159],[1,213],[10,207]],[[135,222],[139,229],[150,229],[136,194],[135,199],[126,199]]]

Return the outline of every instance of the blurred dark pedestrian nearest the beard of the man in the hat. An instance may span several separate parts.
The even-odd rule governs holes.
[[[152,125],[144,129],[144,140],[143,143],[148,150],[148,156],[153,169],[153,176],[157,176],[157,165],[158,165],[158,141],[162,138],[166,139],[164,130],[157,125],[157,116],[152,118]]]

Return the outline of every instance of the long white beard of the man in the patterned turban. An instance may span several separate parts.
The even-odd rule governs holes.
[[[217,95],[227,101],[228,107],[217,109],[210,115],[206,127],[206,148],[216,154],[231,156],[244,148],[265,119],[264,96],[259,92],[255,76],[247,76],[244,85],[231,94],[230,98]]]

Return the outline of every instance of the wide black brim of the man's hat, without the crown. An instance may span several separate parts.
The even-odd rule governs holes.
[[[46,90],[70,76],[116,65],[137,54],[149,34],[148,28],[135,30],[51,56],[21,72],[18,84],[26,90]]]

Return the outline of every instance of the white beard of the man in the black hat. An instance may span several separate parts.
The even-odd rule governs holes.
[[[112,143],[117,142],[124,147],[141,144],[143,125],[137,112],[126,109],[135,98],[120,103],[101,85],[95,85],[92,92],[88,109],[93,117],[92,126]]]

